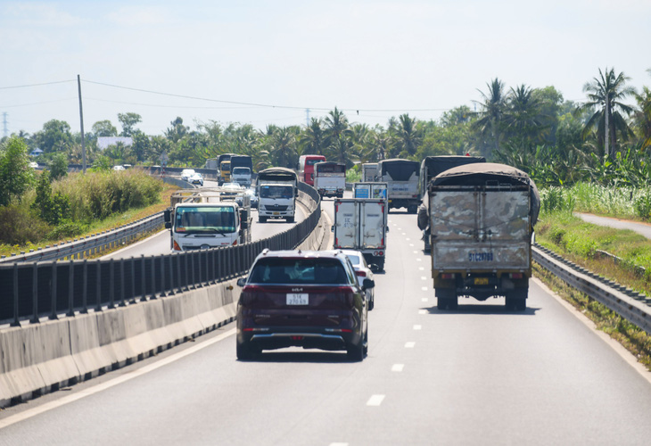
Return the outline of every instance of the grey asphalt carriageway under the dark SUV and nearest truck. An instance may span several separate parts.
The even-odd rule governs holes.
[[[332,212],[332,202],[324,202]],[[13,444],[648,444],[647,372],[537,280],[436,309],[416,217],[390,214],[367,359],[235,359],[235,325],[0,413]]]

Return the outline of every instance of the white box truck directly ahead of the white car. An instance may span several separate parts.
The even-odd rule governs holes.
[[[334,199],[334,249],[362,252],[369,265],[384,269],[386,201],[383,198]]]

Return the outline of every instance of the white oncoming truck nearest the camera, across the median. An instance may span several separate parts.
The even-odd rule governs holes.
[[[242,195],[242,204],[235,196]],[[233,246],[251,242],[251,200],[243,191],[226,187],[174,192],[164,212],[173,251]]]

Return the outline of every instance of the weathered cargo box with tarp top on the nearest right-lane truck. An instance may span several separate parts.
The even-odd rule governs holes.
[[[449,169],[429,186],[435,270],[531,268],[531,229],[540,198],[532,180],[510,166]]]

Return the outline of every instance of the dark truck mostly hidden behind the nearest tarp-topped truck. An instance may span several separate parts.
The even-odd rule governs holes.
[[[430,252],[430,226],[428,218],[427,186],[432,178],[448,169],[475,162],[486,162],[483,156],[460,156],[460,155],[441,155],[426,156],[420,164],[420,175],[418,176],[418,195],[422,202],[418,206],[418,228],[423,231],[424,252]]]

